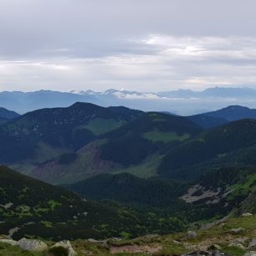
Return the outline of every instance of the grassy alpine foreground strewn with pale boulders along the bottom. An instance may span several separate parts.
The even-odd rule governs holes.
[[[193,235],[191,235],[193,234]],[[146,235],[135,239],[110,238],[104,240],[79,239],[75,241],[38,241],[26,239],[27,244],[44,243],[46,248],[30,251],[10,240],[0,238],[0,255],[7,256],[107,256],[107,255],[253,255],[256,246],[256,217],[244,214],[241,217],[230,217],[212,223],[211,227],[203,226],[185,233],[171,235]],[[15,242],[14,242],[15,243]],[[33,248],[34,249],[34,248]]]

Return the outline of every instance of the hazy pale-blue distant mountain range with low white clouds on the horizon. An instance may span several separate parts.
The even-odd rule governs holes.
[[[218,110],[228,105],[256,108],[256,90],[251,88],[209,88],[202,91],[170,90],[138,92],[129,90],[71,90],[59,92],[0,92],[1,106],[19,114],[42,108],[67,107],[75,102],[90,102],[101,106],[124,105],[145,111],[168,111],[177,115],[193,115]]]

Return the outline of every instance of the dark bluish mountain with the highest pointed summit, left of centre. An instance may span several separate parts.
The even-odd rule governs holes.
[[[116,125],[124,125],[140,115],[142,112],[138,110],[103,108],[88,103],[76,103],[68,108],[35,110],[0,126],[0,142],[6,145],[0,147],[0,161],[13,164],[33,160],[37,157],[37,151],[41,152],[42,143],[52,151],[58,148],[65,151],[78,150],[97,138],[91,121],[99,118],[102,122],[105,120],[105,127],[101,127],[100,131],[103,133],[104,129],[105,132],[110,131]]]

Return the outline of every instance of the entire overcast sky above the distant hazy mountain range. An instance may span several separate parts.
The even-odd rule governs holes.
[[[0,0],[0,90],[256,87],[255,0]]]

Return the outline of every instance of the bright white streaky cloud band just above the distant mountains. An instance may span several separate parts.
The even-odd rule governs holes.
[[[44,49],[43,55],[28,59],[3,58],[0,89],[15,90],[18,85],[20,90],[53,89],[54,86],[54,90],[160,91],[255,85],[256,38],[253,37],[152,34],[146,38],[122,39],[118,45],[119,49],[111,48],[100,56],[88,56],[88,49],[72,45],[72,50]],[[120,50],[122,45],[124,49]],[[155,97],[150,94],[118,96]]]

